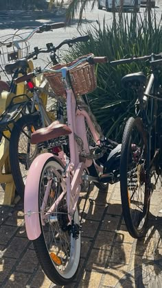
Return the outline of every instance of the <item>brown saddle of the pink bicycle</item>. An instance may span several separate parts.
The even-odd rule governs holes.
[[[31,136],[31,143],[41,143],[68,134],[71,134],[71,129],[67,125],[54,121],[48,127],[34,131]]]

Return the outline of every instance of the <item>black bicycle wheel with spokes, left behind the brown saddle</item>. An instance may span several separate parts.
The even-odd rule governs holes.
[[[16,121],[11,132],[10,165],[16,191],[22,199],[27,171],[38,154],[38,146],[30,143],[30,137],[39,127],[39,115],[25,115]]]

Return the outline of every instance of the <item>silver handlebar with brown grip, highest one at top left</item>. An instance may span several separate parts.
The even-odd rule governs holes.
[[[60,22],[60,23],[53,23],[53,24],[43,24],[42,26],[36,27],[35,29],[32,30],[32,32],[30,32],[28,34],[27,37],[23,38],[23,39],[16,39],[16,40],[12,40],[12,41],[5,41],[5,42],[1,42],[0,41],[0,45],[1,46],[7,46],[7,47],[12,47],[12,46],[16,46],[17,43],[23,43],[27,40],[30,40],[30,38],[32,38],[32,36],[35,33],[43,33],[43,32],[47,32],[50,31],[51,29],[58,29],[58,28],[62,28],[65,27],[65,23]]]

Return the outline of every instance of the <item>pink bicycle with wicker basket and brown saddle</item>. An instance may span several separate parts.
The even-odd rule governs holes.
[[[80,191],[87,190],[91,181],[107,189],[107,182],[119,180],[119,163],[116,170],[106,170],[119,151],[118,145],[105,139],[86,97],[81,96],[96,88],[94,64],[104,62],[106,57],[90,55],[41,71],[54,93],[65,97],[67,124],[55,121],[36,130],[31,141],[41,143],[68,135],[69,153],[58,147],[58,156],[41,154],[30,166],[25,184],[25,226],[40,265],[57,285],[71,283],[80,263]]]

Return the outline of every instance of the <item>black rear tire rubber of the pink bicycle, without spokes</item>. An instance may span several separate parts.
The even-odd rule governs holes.
[[[42,178],[42,174],[43,174],[43,170],[45,168],[45,166],[47,165],[47,163],[50,163],[51,161],[55,161],[58,162],[56,159],[53,159],[52,157],[49,158],[45,164],[44,167],[41,171],[40,174],[40,180]],[[60,164],[60,163],[59,163]],[[62,165],[62,168],[63,165]],[[39,183],[39,187],[40,187],[40,183]],[[39,189],[39,193],[40,193],[40,189]],[[40,208],[39,208],[40,209]],[[41,218],[40,218],[40,214],[39,214],[39,219],[40,219],[40,223],[41,223]],[[74,280],[74,278],[76,278],[76,274],[78,272],[78,267],[80,265],[80,261],[78,263],[78,267],[76,269],[76,273],[71,277],[71,278],[63,278],[58,271],[56,270],[56,268],[54,267],[54,264],[51,261],[51,258],[49,256],[49,253],[47,252],[47,246],[45,244],[45,238],[43,237],[43,229],[42,226],[40,225],[40,230],[41,230],[41,234],[40,236],[35,239],[33,241],[34,244],[34,250],[36,252],[36,256],[38,258],[38,261],[40,263],[40,266],[42,267],[43,271],[45,272],[46,276],[56,285],[68,285],[71,284],[71,282]],[[80,240],[81,243],[81,240]]]

